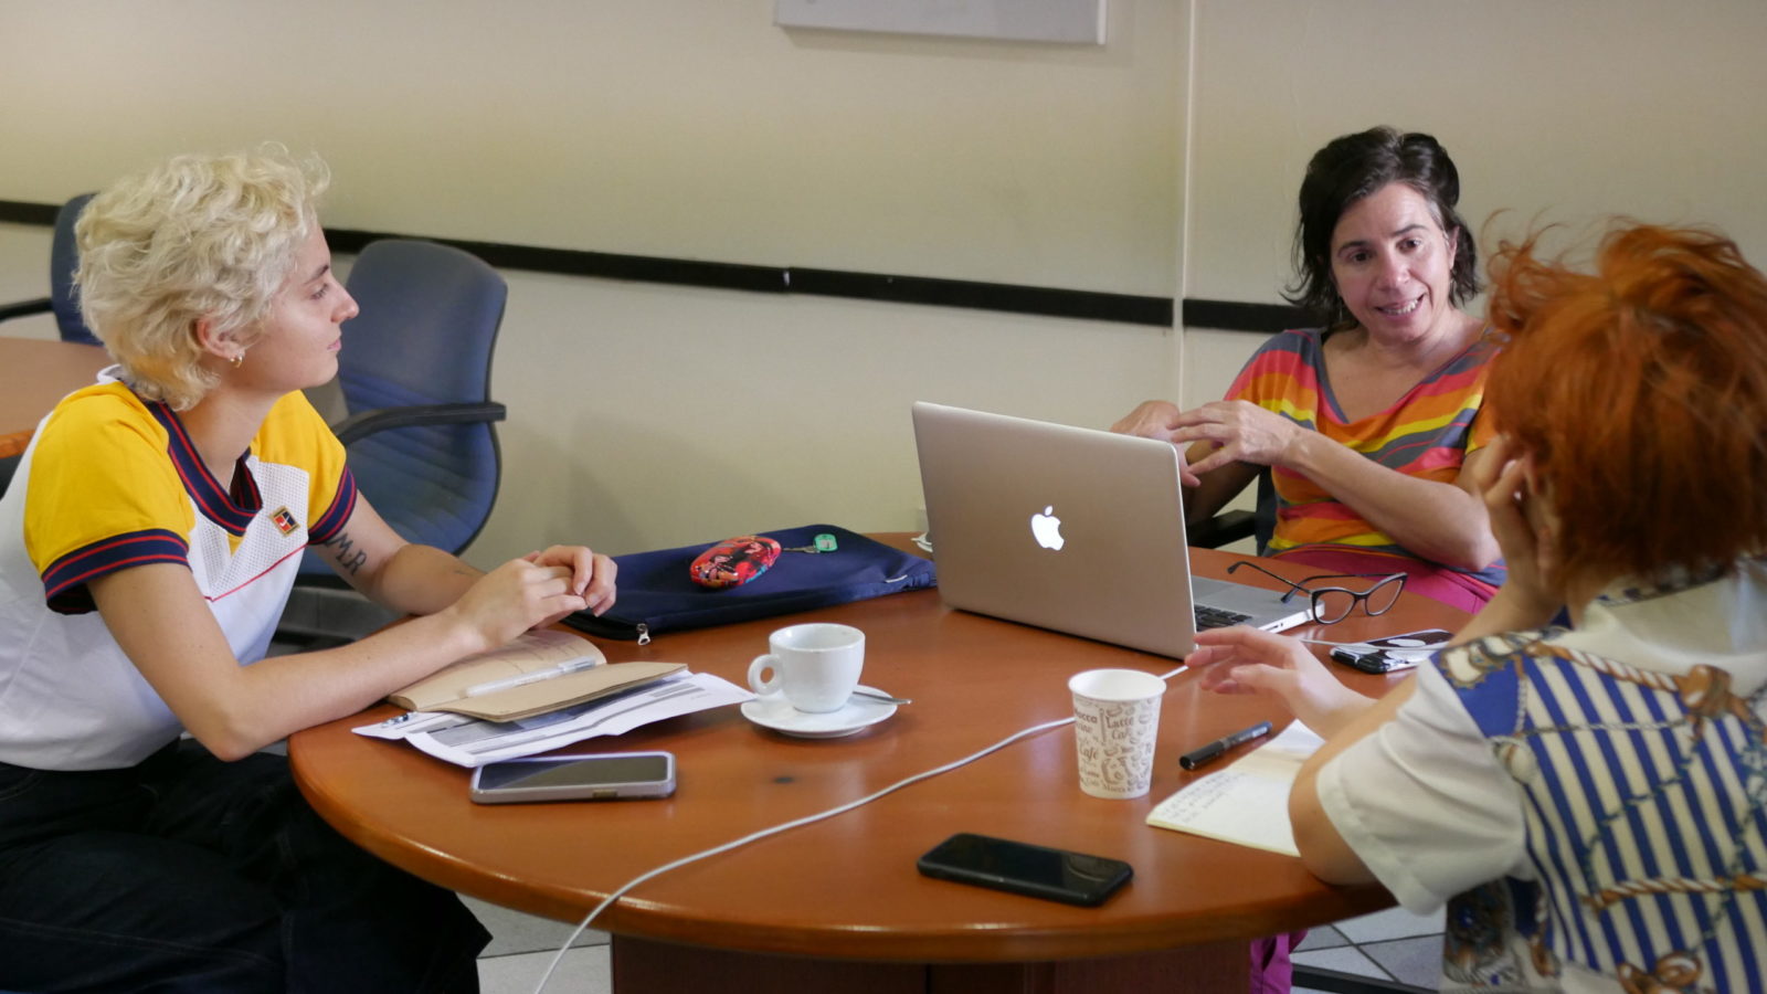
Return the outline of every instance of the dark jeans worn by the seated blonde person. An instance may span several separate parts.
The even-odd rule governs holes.
[[[0,989],[477,990],[459,900],[330,830],[288,762],[0,764]]]

